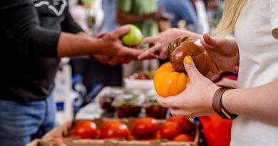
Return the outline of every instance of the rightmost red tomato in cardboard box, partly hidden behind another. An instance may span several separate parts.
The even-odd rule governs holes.
[[[184,133],[191,134],[191,132],[195,129],[193,122],[181,116],[173,116],[168,121],[177,122],[182,127],[182,132]]]

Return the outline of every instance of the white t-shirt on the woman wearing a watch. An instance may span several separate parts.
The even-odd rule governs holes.
[[[257,87],[278,79],[277,31],[278,0],[249,0],[235,26],[240,49],[237,88]],[[230,145],[278,145],[278,126],[239,116],[232,123]]]

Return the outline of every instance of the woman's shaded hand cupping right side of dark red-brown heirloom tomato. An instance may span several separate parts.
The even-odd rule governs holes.
[[[240,53],[235,38],[212,38],[205,33],[202,43],[212,58],[212,66],[207,74],[208,78],[219,71],[228,71],[239,65]]]

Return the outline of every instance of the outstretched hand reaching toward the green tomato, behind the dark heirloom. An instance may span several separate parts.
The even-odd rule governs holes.
[[[168,56],[167,48],[169,43],[178,36],[190,36],[191,38],[202,37],[200,34],[192,33],[190,31],[183,31],[178,28],[170,28],[167,31],[159,33],[158,36],[145,38],[143,43],[150,43],[150,45],[153,46],[141,53],[140,56],[138,56],[138,59],[143,60],[148,58],[151,54],[153,54],[153,56],[158,54],[160,59],[166,59]]]

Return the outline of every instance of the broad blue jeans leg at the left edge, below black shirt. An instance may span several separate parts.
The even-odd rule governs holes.
[[[31,141],[46,114],[46,102],[0,100],[0,146],[22,146]]]

